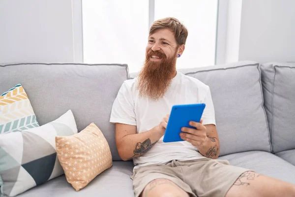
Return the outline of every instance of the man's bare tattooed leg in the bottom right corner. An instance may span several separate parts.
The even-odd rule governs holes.
[[[247,171],[236,180],[226,197],[295,197],[295,185]]]

